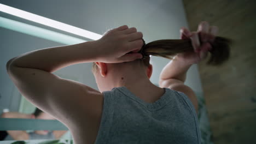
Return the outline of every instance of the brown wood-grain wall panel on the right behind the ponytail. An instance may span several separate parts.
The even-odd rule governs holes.
[[[256,1],[183,0],[190,31],[201,21],[234,40],[228,62],[200,62],[206,107],[215,144],[256,143]]]

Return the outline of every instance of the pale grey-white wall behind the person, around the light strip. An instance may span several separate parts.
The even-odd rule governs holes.
[[[0,3],[98,34],[103,34],[109,28],[116,28],[121,25],[136,27],[137,31],[143,33],[146,43],[159,39],[179,39],[179,28],[182,26],[188,28],[181,0],[6,0],[0,1]],[[0,16],[11,17],[3,13],[0,13]],[[4,28],[0,28],[0,40],[0,94],[2,96],[0,98],[0,113],[2,113],[3,108],[17,111],[20,99],[16,94],[18,93],[16,87],[5,70],[5,64],[8,60],[28,51],[63,44]],[[168,62],[169,60],[166,58],[152,57],[153,74],[150,80],[153,83],[158,83],[160,72]],[[55,74],[63,75],[63,78],[74,79],[98,89],[91,73],[91,63],[71,65],[56,71]],[[196,64],[189,69],[185,83],[194,91],[202,91]],[[12,103],[10,103],[11,99],[13,99]]]

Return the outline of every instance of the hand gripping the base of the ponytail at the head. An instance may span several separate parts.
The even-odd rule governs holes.
[[[97,62],[121,63],[142,58],[141,53],[138,53],[143,46],[142,37],[143,34],[137,32],[135,27],[128,28],[126,25],[110,30],[95,41],[98,50]]]

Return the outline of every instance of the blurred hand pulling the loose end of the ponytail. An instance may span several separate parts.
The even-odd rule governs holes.
[[[212,49],[210,43],[214,42],[215,36],[218,33],[218,27],[209,26],[208,22],[202,21],[197,28],[197,32],[190,32],[187,28],[182,27],[180,33],[181,39],[191,39],[194,52],[178,53],[176,58],[181,59],[185,63],[195,64],[205,59],[208,51]]]

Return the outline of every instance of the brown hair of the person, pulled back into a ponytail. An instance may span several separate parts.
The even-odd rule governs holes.
[[[143,40],[143,39],[142,39]],[[168,59],[173,59],[178,53],[182,52],[194,52],[193,45],[190,39],[162,39],[155,40],[148,44],[143,40],[142,49],[139,53],[143,55],[143,62],[149,66],[149,55],[160,56]],[[201,41],[200,41],[201,43]],[[207,65],[221,65],[229,59],[230,56],[230,45],[232,40],[223,37],[215,37],[214,43],[211,43],[212,49],[209,51],[211,57],[207,62]],[[95,63],[92,64],[92,71],[97,69]]]

